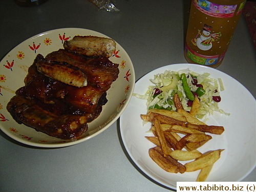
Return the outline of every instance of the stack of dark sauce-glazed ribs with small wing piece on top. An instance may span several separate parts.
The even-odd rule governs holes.
[[[76,39],[84,43],[86,38]],[[16,122],[37,131],[60,139],[77,138],[101,113],[102,105],[108,102],[106,91],[118,74],[118,64],[105,53],[94,58],[65,49],[45,58],[38,54],[29,67],[25,86],[16,91],[7,110]]]

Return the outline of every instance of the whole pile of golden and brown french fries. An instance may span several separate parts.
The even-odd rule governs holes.
[[[195,117],[200,109],[197,97],[190,112],[183,109],[177,94],[174,96],[174,103],[177,111],[152,109],[146,115],[141,114],[144,121],[152,122],[154,136],[145,138],[156,146],[150,148],[148,153],[166,172],[182,174],[201,169],[196,181],[205,181],[223,150],[202,154],[197,149],[212,139],[206,133],[221,135],[224,127],[207,125]],[[180,161],[189,162],[182,164]]]

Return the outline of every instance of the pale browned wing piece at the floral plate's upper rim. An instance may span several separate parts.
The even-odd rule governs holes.
[[[116,42],[104,37],[75,36],[69,41],[64,41],[63,47],[68,51],[90,57],[109,58],[116,49]]]

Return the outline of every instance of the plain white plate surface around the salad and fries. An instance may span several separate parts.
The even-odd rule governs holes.
[[[150,79],[165,70],[179,71],[187,69],[203,74],[210,73],[212,78],[222,78],[225,90],[221,92],[219,106],[230,116],[219,114],[208,116],[209,125],[222,125],[225,132],[222,135],[212,135],[212,139],[200,147],[200,152],[225,149],[221,158],[215,163],[207,181],[241,181],[255,167],[255,99],[250,92],[236,79],[205,66],[194,64],[175,64],[156,69],[135,84],[134,93],[145,94],[148,86],[153,85]],[[196,181],[196,172],[173,174],[160,168],[148,155],[148,149],[155,146],[144,138],[153,136],[146,133],[151,124],[142,125],[140,114],[146,114],[146,100],[132,97],[126,110],[120,117],[120,133],[127,153],[136,165],[149,177],[158,183],[176,189],[178,181]]]

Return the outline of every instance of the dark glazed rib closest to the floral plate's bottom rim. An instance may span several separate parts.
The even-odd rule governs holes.
[[[7,110],[18,123],[60,139],[76,138],[88,130],[87,116],[57,116],[33,104],[34,102],[34,99],[16,95],[8,103]]]

